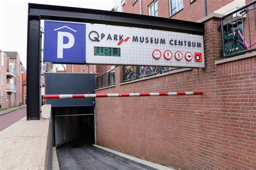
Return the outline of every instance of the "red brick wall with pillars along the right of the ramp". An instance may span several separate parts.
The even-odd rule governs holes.
[[[256,58],[215,65],[219,21],[205,23],[206,68],[96,93],[200,90],[204,95],[96,98],[97,144],[181,169],[256,168]]]

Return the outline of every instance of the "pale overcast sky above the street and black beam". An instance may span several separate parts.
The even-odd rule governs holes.
[[[114,0],[0,0],[0,49],[17,51],[26,68],[28,3],[111,10]]]

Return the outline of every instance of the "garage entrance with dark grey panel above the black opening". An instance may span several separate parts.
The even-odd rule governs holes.
[[[95,74],[46,73],[45,88],[46,94],[93,93]],[[53,146],[75,140],[95,143],[95,98],[49,98],[45,103],[52,106]]]

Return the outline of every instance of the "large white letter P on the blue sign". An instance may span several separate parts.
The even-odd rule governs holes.
[[[68,37],[69,42],[64,44],[64,37]],[[71,48],[75,44],[75,37],[69,32],[60,32],[58,31],[58,42],[57,42],[57,58],[63,59],[63,49]]]

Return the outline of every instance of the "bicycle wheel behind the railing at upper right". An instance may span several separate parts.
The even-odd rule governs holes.
[[[234,54],[246,49],[245,45],[239,40],[233,40],[233,38],[227,38],[224,41],[224,52],[226,55]]]

